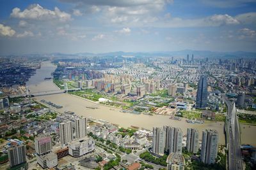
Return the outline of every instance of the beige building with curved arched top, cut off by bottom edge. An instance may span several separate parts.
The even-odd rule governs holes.
[[[167,170],[184,170],[185,159],[181,153],[170,153],[166,159]]]

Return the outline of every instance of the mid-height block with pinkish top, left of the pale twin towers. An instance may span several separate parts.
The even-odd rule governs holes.
[[[35,150],[38,155],[45,155],[52,150],[51,136],[35,138]]]

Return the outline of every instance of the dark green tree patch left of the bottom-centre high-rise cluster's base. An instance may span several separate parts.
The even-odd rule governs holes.
[[[140,158],[147,161],[147,162],[152,162],[154,164],[159,164],[161,166],[166,166],[166,159],[168,155],[164,154],[163,157],[154,157],[151,155],[149,152],[143,152],[140,154]]]

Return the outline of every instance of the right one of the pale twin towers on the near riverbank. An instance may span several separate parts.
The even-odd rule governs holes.
[[[76,138],[84,138],[86,136],[86,118],[76,118],[75,119],[75,130],[76,130]]]

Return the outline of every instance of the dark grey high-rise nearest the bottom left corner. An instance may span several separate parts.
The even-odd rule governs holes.
[[[15,167],[20,164],[26,163],[25,145],[12,142],[10,148],[8,148],[8,157],[9,157],[10,167]]]

